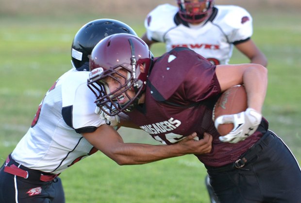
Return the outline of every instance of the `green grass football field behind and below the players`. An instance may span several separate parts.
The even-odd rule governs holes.
[[[253,40],[268,57],[269,84],[264,116],[301,161],[301,15],[260,12]],[[0,17],[0,159],[29,128],[39,102],[53,82],[70,69],[70,45],[86,22],[108,16]],[[124,19],[138,33],[141,19]],[[164,45],[152,47],[155,56]],[[248,62],[234,51],[231,63]],[[126,142],[151,143],[146,133],[120,129]],[[157,143],[155,143],[157,144]],[[146,165],[118,166],[97,153],[67,169],[67,203],[208,203],[206,171],[193,156]]]

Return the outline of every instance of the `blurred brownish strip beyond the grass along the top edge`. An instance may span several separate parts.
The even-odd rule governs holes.
[[[176,5],[176,0],[0,0],[1,14],[19,15],[62,15],[69,14],[120,14],[123,17],[137,19],[146,15],[152,8],[161,3]],[[300,11],[300,0],[216,0],[216,4],[235,4],[249,11],[280,10]]]

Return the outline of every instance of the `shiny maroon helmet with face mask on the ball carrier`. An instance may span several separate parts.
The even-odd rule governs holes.
[[[114,34],[101,40],[92,50],[88,79],[88,87],[97,97],[97,106],[110,116],[132,111],[145,90],[152,58],[148,45],[134,35]],[[144,66],[144,73],[140,72],[140,65]],[[126,77],[118,73],[121,69],[126,71]],[[125,80],[125,84],[120,83],[116,74]],[[106,77],[119,83],[119,88],[110,92],[103,81]],[[129,89],[135,93],[133,98],[127,94]],[[129,101],[119,105],[117,97],[123,93]]]

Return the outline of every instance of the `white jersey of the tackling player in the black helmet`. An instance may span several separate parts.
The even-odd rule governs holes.
[[[89,72],[74,68],[63,74],[46,93],[32,127],[12,152],[18,163],[59,174],[96,152],[80,134],[95,131],[105,121],[95,114],[95,95],[87,87]]]

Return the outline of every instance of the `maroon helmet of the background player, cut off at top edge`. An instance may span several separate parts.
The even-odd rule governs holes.
[[[214,0],[177,0],[180,17],[189,23],[201,23],[212,13]]]

